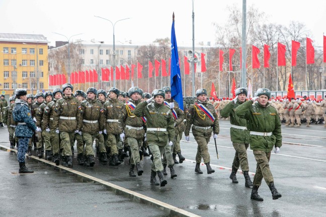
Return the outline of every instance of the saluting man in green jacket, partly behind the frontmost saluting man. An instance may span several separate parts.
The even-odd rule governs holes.
[[[246,101],[248,90],[246,88],[240,87],[235,90],[235,98],[225,105],[223,110],[220,112],[221,117],[230,117],[230,135],[232,145],[235,149],[235,156],[232,163],[232,172],[230,179],[233,183],[238,183],[236,179],[236,172],[241,166],[243,175],[245,176],[245,186],[252,187],[253,182],[250,180],[249,176],[249,165],[247,149],[249,147],[249,130],[247,130],[246,119],[241,119],[235,114],[235,109],[240,104]]]

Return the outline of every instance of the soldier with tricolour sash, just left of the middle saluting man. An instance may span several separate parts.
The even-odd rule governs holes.
[[[134,108],[141,102],[139,96],[141,91],[138,87],[131,87],[129,90],[131,99],[124,105],[122,109],[123,122],[125,123],[124,134],[126,143],[130,147],[130,169],[129,176],[135,177],[134,167],[136,166],[138,176],[143,173],[140,165],[139,149],[142,146],[142,140],[145,136],[145,119],[136,117],[133,112]]]

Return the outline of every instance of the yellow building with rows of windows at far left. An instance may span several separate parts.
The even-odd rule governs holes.
[[[48,90],[48,43],[43,35],[0,33],[0,94]]]

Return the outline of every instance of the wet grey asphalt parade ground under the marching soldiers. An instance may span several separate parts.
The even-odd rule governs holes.
[[[272,151],[270,168],[282,197],[273,200],[262,182],[259,195],[264,201],[251,200],[251,188],[245,187],[240,170],[238,184],[229,179],[234,149],[230,141],[229,121],[220,120],[217,138],[208,148],[215,173],[197,174],[197,144],[190,133],[184,135],[181,150],[186,158],[174,166],[178,177],[166,176],[165,187],[149,183],[150,157],[141,164],[142,176],[129,177],[129,158],[119,166],[79,166],[76,148],[73,168],[27,157],[26,166],[33,174],[19,174],[17,154],[10,150],[6,127],[0,128],[0,216],[324,216],[326,202],[326,128],[323,125],[286,127],[282,125],[283,144],[279,154]],[[95,148],[95,144],[94,144]],[[250,175],[256,161],[248,150]],[[178,157],[177,157],[178,159]]]

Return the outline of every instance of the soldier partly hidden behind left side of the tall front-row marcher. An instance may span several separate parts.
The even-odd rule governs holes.
[[[55,104],[56,101],[62,98],[62,90],[59,88],[55,88],[52,92],[53,100],[46,104],[43,112],[43,125],[45,132],[49,133],[49,142],[52,148],[53,154],[53,162],[56,165],[59,165],[60,158],[59,158],[59,129],[58,129],[58,121],[59,117],[56,115]]]

